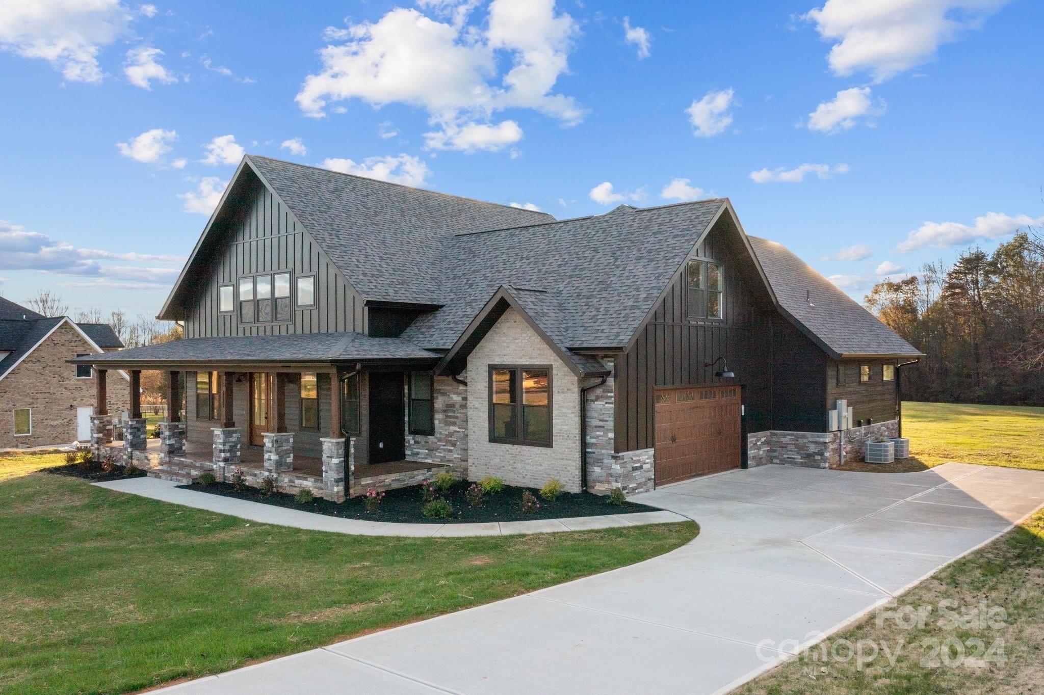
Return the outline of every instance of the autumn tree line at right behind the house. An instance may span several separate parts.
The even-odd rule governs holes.
[[[867,307],[925,354],[902,373],[903,399],[1044,405],[1044,237],[1019,232],[992,254],[963,251],[885,280]]]

